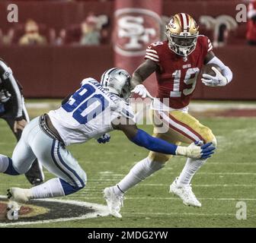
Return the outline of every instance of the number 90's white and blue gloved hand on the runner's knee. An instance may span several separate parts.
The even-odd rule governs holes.
[[[192,159],[207,159],[214,153],[215,147],[213,143],[199,146],[198,142],[190,144],[188,147],[178,146],[176,150],[177,155],[187,156]]]

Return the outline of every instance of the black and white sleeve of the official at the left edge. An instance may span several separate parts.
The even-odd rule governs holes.
[[[11,93],[11,98],[13,99],[13,109],[15,114],[15,119],[22,119],[22,109],[23,109],[23,100],[21,95],[21,90],[18,87],[18,83],[15,80],[11,68],[9,68],[5,62],[0,60],[0,75],[1,79],[5,85],[6,90]]]

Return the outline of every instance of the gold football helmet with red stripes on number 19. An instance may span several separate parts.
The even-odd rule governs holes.
[[[165,26],[169,48],[187,60],[187,55],[197,46],[198,27],[193,17],[189,14],[175,14]]]

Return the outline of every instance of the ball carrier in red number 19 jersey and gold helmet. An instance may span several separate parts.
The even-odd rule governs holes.
[[[191,141],[202,140],[203,143],[213,142],[216,147],[213,132],[189,115],[187,106],[203,65],[216,64],[222,69],[222,72],[219,72],[213,68],[215,76],[203,74],[203,84],[210,87],[229,84],[232,71],[214,55],[210,39],[199,35],[196,21],[189,14],[180,13],[171,17],[165,33],[168,40],[149,45],[146,49],[146,61],[134,71],[131,80],[133,92],[146,97],[148,91],[142,82],[155,72],[158,81],[158,102],[152,104],[154,136],[173,144],[190,144]],[[168,125],[167,129],[159,128],[157,124],[161,122],[163,126]],[[113,193],[108,204],[111,204],[112,211],[119,213],[123,194],[161,169],[170,158],[167,154],[150,152],[146,159],[136,163],[123,180],[111,187]],[[206,159],[187,159],[181,175],[170,186],[170,192],[181,197],[186,205],[201,207],[190,181],[205,162]]]

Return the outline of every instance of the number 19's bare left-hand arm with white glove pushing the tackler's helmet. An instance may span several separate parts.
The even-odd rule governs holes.
[[[131,79],[131,86],[134,88],[132,92],[138,93],[139,96],[142,96],[142,98],[146,98],[149,91],[146,90],[146,87],[142,83],[147,77],[155,72],[157,68],[157,63],[150,59],[147,59],[145,62],[139,65],[136,71],[133,72],[133,77]]]

